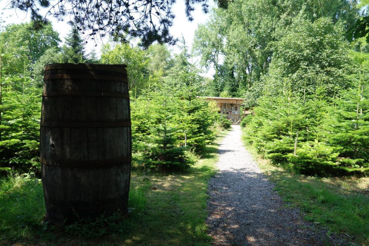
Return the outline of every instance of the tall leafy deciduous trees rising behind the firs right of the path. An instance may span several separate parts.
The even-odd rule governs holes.
[[[301,78],[306,74],[307,85],[324,75],[324,83],[333,85],[327,93],[333,92],[334,85],[349,85],[343,76],[351,67],[344,33],[359,16],[356,4],[348,0],[233,0],[226,10],[214,10],[195,33],[201,65],[215,70],[211,91],[218,92],[215,96],[227,91],[244,97],[246,106],[252,107],[265,85],[282,85],[286,74],[297,89],[303,88]]]

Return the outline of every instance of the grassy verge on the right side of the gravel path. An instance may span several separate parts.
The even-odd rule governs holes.
[[[369,178],[320,178],[295,174],[270,164],[255,148],[247,146],[259,167],[287,206],[296,206],[304,218],[345,233],[362,245],[369,245]]]

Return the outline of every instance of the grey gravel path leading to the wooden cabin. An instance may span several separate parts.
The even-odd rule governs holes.
[[[283,206],[241,142],[240,126],[223,139],[219,172],[209,181],[207,225],[213,245],[343,245]]]

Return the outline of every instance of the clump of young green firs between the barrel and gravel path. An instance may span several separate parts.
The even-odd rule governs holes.
[[[155,51],[155,52],[154,52]],[[218,109],[197,98],[202,78],[195,64],[188,60],[185,45],[166,71],[168,57],[162,46],[150,51],[154,60],[148,62],[153,74],[145,89],[131,102],[132,144],[137,164],[162,170],[187,168],[192,152],[199,152],[214,140],[214,122]]]

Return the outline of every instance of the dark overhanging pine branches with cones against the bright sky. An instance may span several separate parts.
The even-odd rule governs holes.
[[[52,16],[58,20],[70,20],[73,25],[94,40],[96,36],[111,35],[127,41],[127,35],[140,37],[141,45],[147,48],[157,41],[174,44],[176,38],[169,33],[175,15],[172,12],[176,0],[11,0],[10,7],[30,12],[35,27],[47,22]],[[226,7],[227,0],[218,0],[218,6]],[[208,12],[208,0],[185,0],[186,16],[193,20],[195,4]],[[41,11],[46,9],[46,16]],[[88,42],[88,41],[86,41]]]

